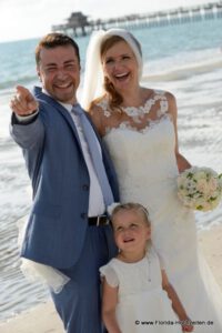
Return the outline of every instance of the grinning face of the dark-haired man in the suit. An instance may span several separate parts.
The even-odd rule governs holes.
[[[80,83],[80,63],[72,46],[43,48],[37,68],[43,89],[56,100],[73,104]]]

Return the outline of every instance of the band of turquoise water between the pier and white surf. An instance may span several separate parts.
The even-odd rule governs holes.
[[[206,50],[222,48],[222,19],[203,20],[178,26],[131,30],[142,44],[145,63],[171,59],[171,67],[192,62],[194,54],[204,59]],[[77,38],[84,70],[89,36]],[[20,82],[36,82],[34,48],[38,39],[0,43],[0,89],[12,88]],[[152,69],[151,69],[152,71]]]

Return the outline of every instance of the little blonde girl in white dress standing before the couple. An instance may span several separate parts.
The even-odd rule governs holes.
[[[109,333],[179,333],[193,326],[150,241],[148,211],[118,204],[111,213],[119,254],[100,269],[102,317]]]

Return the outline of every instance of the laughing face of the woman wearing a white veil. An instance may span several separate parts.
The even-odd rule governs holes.
[[[132,49],[124,41],[113,44],[102,56],[104,77],[112,82],[117,91],[139,85],[138,62]]]

